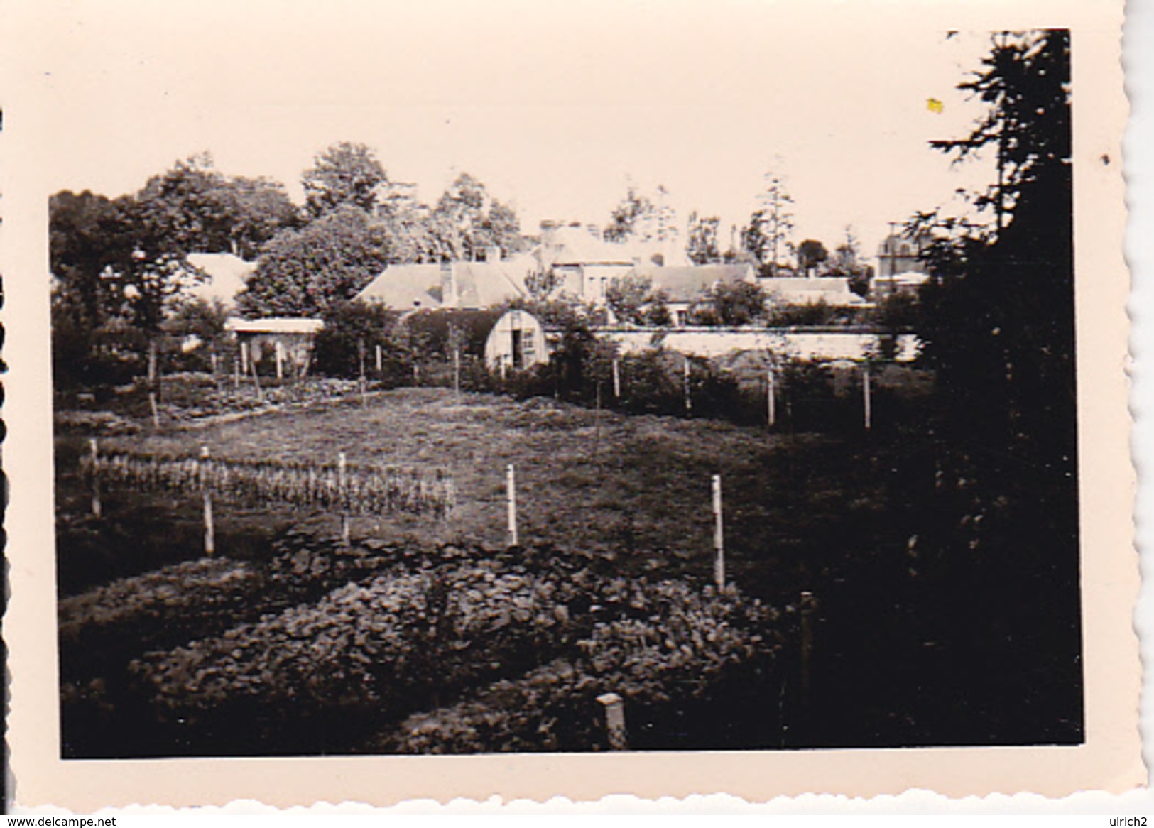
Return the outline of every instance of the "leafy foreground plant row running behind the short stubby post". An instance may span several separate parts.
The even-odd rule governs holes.
[[[621,593],[610,582],[606,597]],[[628,605],[649,617],[598,623],[574,652],[518,679],[496,682],[451,707],[406,718],[376,745],[391,753],[587,751],[605,747],[597,697],[627,709],[677,707],[707,698],[733,672],[771,664],[779,614],[735,592],[704,594],[684,582],[634,582]]]

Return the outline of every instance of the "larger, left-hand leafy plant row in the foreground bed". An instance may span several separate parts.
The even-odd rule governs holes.
[[[492,562],[397,572],[145,655],[130,671],[160,723],[189,738],[212,745],[245,733],[275,750],[279,738],[307,742],[312,722],[322,742],[310,747],[331,747],[366,716],[400,718],[442,693],[524,671],[540,653],[553,657],[567,594]]]

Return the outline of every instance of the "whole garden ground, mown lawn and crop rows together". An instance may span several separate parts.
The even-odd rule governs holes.
[[[909,439],[444,389],[148,431],[95,460],[58,432],[67,757],[608,750],[612,698],[630,750],[984,721],[924,701],[975,673],[912,557],[935,485]]]

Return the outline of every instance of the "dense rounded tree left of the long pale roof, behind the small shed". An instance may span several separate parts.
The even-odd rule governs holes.
[[[388,264],[388,254],[384,225],[343,205],[265,244],[238,307],[255,316],[320,316],[360,293]]]

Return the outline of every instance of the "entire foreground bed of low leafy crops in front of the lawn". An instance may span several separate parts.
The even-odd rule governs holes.
[[[599,750],[607,692],[631,747],[668,747],[736,716],[733,688],[775,698],[794,638],[733,588],[579,552],[302,533],[276,552],[61,601],[66,755]]]

